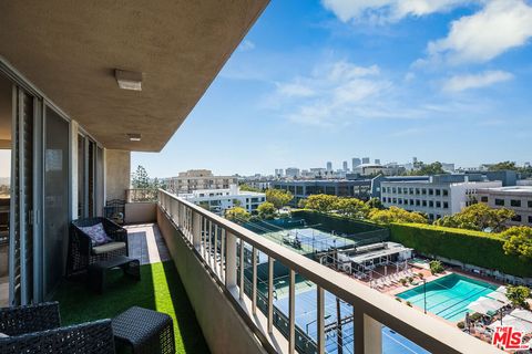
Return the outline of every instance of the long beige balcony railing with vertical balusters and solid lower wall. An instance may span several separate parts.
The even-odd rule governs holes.
[[[174,195],[160,190],[157,199],[156,226],[213,352],[336,352],[336,347],[327,346],[330,321],[326,313],[330,309],[326,306],[330,296],[341,299],[342,311],[351,311],[345,324],[349,330],[344,329],[342,335],[352,347],[344,346],[345,352],[380,353],[382,325],[432,353],[499,352]],[[258,259],[263,257],[267,258],[266,277],[257,269]],[[279,285],[274,283],[274,269],[278,263],[289,270],[287,306],[283,310],[274,294]],[[171,266],[157,266],[164,268],[166,280],[175,274]],[[316,292],[315,302],[305,305],[315,317],[314,322],[309,321],[310,331],[300,326],[297,319],[300,312],[296,313],[301,306],[296,296],[301,279],[311,283],[310,289]],[[63,299],[68,301],[68,298]],[[79,311],[84,312],[82,306]],[[79,314],[72,317],[75,319]],[[349,326],[349,322],[354,325]],[[346,331],[352,333],[348,336]]]

